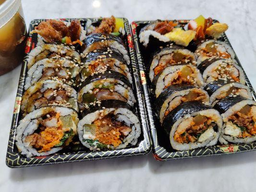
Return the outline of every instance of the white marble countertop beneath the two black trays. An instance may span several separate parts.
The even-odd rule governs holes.
[[[191,19],[203,14],[229,24],[227,36],[256,88],[254,0],[22,0],[28,25],[37,18],[115,15],[130,22]],[[158,162],[152,153],[11,169],[5,156],[21,66],[0,76],[0,192],[249,192],[256,190],[256,153]]]

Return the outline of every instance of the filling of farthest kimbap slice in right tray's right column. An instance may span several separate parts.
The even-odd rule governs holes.
[[[227,52],[226,48],[222,45],[216,44],[215,42],[210,42],[205,48],[198,51],[199,55],[203,54],[207,57],[220,57],[224,59],[230,59],[231,55]]]

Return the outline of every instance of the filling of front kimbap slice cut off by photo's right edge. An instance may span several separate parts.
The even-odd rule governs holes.
[[[225,134],[238,138],[256,135],[256,106],[245,105],[228,118]]]

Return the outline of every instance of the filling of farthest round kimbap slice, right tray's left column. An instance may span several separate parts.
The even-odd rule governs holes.
[[[161,72],[166,66],[189,63],[192,62],[193,58],[189,55],[185,55],[178,51],[173,51],[170,54],[161,56],[158,65],[154,68],[154,76]]]

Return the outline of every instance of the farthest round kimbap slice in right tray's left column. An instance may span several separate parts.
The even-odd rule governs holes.
[[[170,46],[160,49],[154,54],[150,64],[149,78],[151,82],[165,67],[179,64],[196,65],[195,54],[180,46]]]

